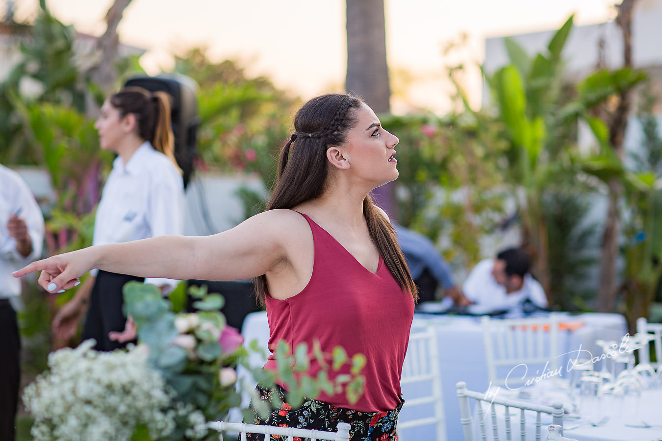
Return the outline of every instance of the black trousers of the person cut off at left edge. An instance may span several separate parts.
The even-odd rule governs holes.
[[[0,440],[16,438],[16,412],[21,383],[21,338],[16,311],[9,300],[0,300]]]

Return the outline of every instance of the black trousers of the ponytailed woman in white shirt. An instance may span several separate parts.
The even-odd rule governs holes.
[[[108,333],[124,331],[126,316],[122,312],[122,288],[130,280],[144,282],[144,278],[99,271],[90,295],[87,316],[83,325],[83,340],[95,339],[95,350],[111,351],[124,348],[128,343],[111,341]]]

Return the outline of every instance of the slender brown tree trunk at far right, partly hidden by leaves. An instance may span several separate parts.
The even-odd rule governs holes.
[[[623,67],[632,67],[632,8],[637,0],[623,0],[618,8],[616,24],[623,35]],[[629,90],[618,97],[618,106],[609,120],[609,140],[614,153],[622,159],[623,138],[628,125],[632,98]],[[621,235],[621,220],[618,201],[623,193],[623,186],[617,180],[609,183],[609,206],[602,236],[600,254],[600,284],[598,286],[597,307],[600,312],[612,312],[616,307],[616,258],[618,257],[618,239]]]

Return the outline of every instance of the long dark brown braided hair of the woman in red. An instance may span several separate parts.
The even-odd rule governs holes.
[[[357,124],[356,112],[363,100],[352,95],[328,94],[308,100],[294,117],[295,132],[281,150],[278,179],[267,210],[293,208],[318,198],[328,182],[326,150],[347,142],[347,134]],[[370,194],[363,200],[363,216],[370,237],[387,268],[402,290],[418,299],[416,285],[395,237],[393,225],[379,212]],[[256,297],[264,306],[265,276],[255,280]]]

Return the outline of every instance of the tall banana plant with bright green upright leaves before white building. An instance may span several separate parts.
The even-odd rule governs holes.
[[[573,17],[554,34],[547,50],[529,57],[513,40],[506,41],[510,64],[487,81],[500,120],[507,128],[508,167],[504,179],[511,186],[522,222],[525,247],[535,260],[532,272],[552,303],[572,307],[577,292],[575,269],[587,268],[591,259],[575,252],[577,241],[589,243],[594,225],[580,225],[587,207],[573,192],[583,189],[581,175],[600,168],[579,156],[577,138],[577,92],[563,83],[563,47],[573,26]],[[580,88],[579,95],[588,89]],[[599,128],[600,120],[592,121]],[[573,188],[572,191],[569,189]],[[573,219],[573,216],[577,216]],[[566,266],[559,262],[573,262]],[[561,275],[561,272],[564,272]],[[567,272],[567,273],[566,273]]]

